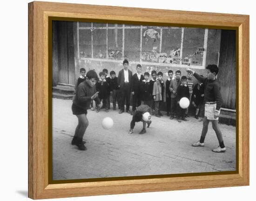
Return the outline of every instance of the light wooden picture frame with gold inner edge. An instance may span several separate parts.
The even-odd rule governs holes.
[[[111,181],[55,183],[49,181],[49,80],[48,30],[51,19],[91,19],[172,26],[236,30],[236,171],[222,174],[173,175]],[[28,4],[28,197],[32,199],[110,195],[195,188],[249,185],[249,16],[171,11],[147,8],[94,6],[53,2]],[[50,97],[50,98],[49,98]]]

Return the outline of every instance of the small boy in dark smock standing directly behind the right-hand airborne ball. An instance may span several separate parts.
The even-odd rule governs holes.
[[[177,120],[178,122],[188,121],[185,117],[186,109],[181,108],[180,106],[180,100],[182,97],[187,97],[189,99],[189,86],[187,84],[187,77],[182,76],[182,83],[177,88]],[[182,120],[181,120],[182,119]]]

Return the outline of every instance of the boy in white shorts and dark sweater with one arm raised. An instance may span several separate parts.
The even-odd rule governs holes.
[[[186,69],[187,72],[191,72],[196,79],[204,84],[204,118],[203,118],[203,127],[201,138],[197,143],[192,144],[194,147],[203,147],[204,139],[208,131],[209,121],[212,122],[212,128],[216,133],[216,136],[219,141],[219,146],[216,149],[213,149],[213,152],[220,153],[225,152],[226,147],[223,142],[222,132],[218,125],[218,117],[220,114],[220,109],[222,105],[222,95],[220,90],[220,83],[216,79],[218,74],[217,65],[208,65],[207,69],[207,78],[203,78],[191,69]]]

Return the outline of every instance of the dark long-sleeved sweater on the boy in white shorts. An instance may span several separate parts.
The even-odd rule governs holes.
[[[222,106],[222,95],[221,95],[221,86],[220,82],[215,80],[209,80],[208,78],[203,78],[198,75],[196,72],[194,73],[196,79],[204,84],[204,101],[205,102],[215,102],[216,110],[220,110]]]

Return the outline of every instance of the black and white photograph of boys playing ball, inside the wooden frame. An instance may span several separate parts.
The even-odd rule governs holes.
[[[53,21],[52,179],[236,171],[236,31]]]

